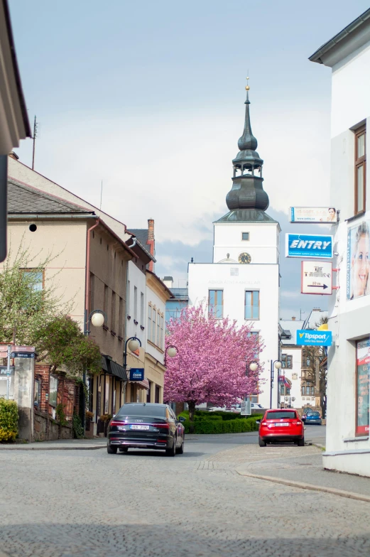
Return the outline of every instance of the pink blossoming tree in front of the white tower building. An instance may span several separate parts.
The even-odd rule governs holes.
[[[259,363],[262,346],[258,337],[249,335],[251,325],[237,328],[227,318],[209,318],[200,305],[170,320],[167,332],[165,345],[175,346],[178,354],[167,358],[164,399],[188,404],[191,429],[197,404],[230,405],[258,392],[261,364],[256,372],[249,364]]]

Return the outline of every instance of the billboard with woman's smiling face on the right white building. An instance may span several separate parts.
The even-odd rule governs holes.
[[[370,293],[370,221],[349,228],[347,240],[347,299]]]

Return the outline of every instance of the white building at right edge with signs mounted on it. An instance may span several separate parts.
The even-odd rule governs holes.
[[[337,296],[329,329],[326,468],[370,476],[370,188],[366,127],[370,116],[370,9],[310,57],[332,68],[330,205]]]

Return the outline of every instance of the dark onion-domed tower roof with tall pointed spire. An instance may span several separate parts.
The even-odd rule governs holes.
[[[244,104],[246,105],[244,131],[238,141],[239,153],[232,161],[234,166],[232,189],[226,196],[230,212],[218,222],[276,222],[265,213],[268,207],[268,195],[262,185],[263,160],[256,151],[258,142],[251,129],[249,85],[246,85]]]

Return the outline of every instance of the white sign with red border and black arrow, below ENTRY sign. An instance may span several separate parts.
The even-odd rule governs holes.
[[[332,294],[332,262],[302,261],[300,292],[302,294]]]

